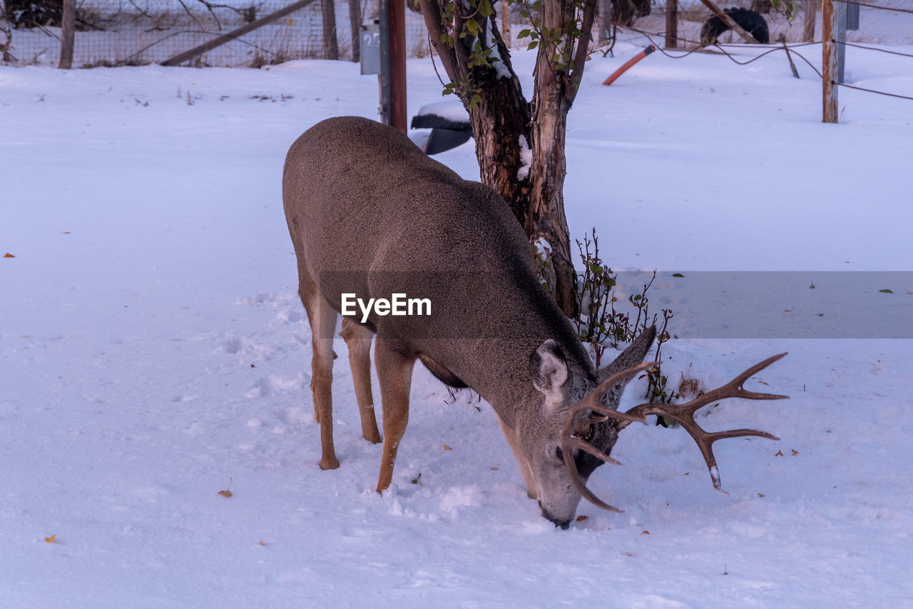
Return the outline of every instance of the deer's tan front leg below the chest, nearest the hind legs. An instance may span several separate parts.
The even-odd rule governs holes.
[[[409,422],[409,390],[412,388],[415,356],[404,355],[401,350],[391,348],[378,337],[374,361],[381,381],[383,408],[383,455],[381,474],[377,478],[377,492],[383,493],[393,480],[396,451]]]

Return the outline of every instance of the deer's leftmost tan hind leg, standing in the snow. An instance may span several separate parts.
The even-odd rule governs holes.
[[[340,466],[333,446],[333,334],[336,311],[320,294],[317,283],[299,265],[299,294],[310,322],[310,390],[314,401],[314,420],[320,423],[320,469]]]

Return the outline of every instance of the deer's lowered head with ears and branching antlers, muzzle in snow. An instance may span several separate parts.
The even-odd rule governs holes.
[[[725,398],[738,397],[749,400],[776,400],[786,396],[746,391],[742,384],[751,375],[770,366],[782,353],[768,358],[742,372],[718,389],[708,391],[683,404],[649,402],[629,411],[617,411],[624,386],[638,372],[655,366],[656,362],[640,363],[653,342],[655,329],[651,328],[609,366],[601,369],[595,381],[574,372],[564,353],[554,341],[548,340],[530,357],[530,375],[533,386],[543,396],[538,416],[518,422],[524,465],[529,469],[527,480],[530,497],[539,500],[542,516],[556,526],[566,529],[585,497],[593,505],[614,512],[614,508],[593,495],[586,481],[603,463],[621,465],[609,454],[618,433],[630,422],[645,422],[648,414],[662,414],[678,422],[698,443],[707,463],[713,486],[720,492],[719,472],[712,444],[721,438],[755,435],[778,440],[770,433],[750,429],[708,433],[694,420],[699,408]],[[556,430],[558,430],[556,432]],[[516,452],[516,451],[515,451]]]

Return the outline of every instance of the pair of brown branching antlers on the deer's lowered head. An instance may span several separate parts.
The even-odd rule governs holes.
[[[574,464],[573,449],[577,448],[586,451],[587,453],[593,454],[594,456],[603,459],[603,461],[606,463],[611,463],[614,465],[621,464],[619,464],[609,455],[603,454],[602,451],[597,449],[592,444],[574,435],[572,433],[573,429],[579,422],[582,422],[586,418],[589,418],[590,422],[600,422],[605,421],[608,418],[612,418],[619,422],[618,429],[621,431],[630,422],[645,422],[645,417],[648,414],[658,414],[667,416],[678,422],[679,425],[687,430],[687,433],[691,434],[691,437],[694,438],[694,441],[698,443],[700,453],[704,455],[704,461],[707,462],[707,468],[710,472],[710,479],[713,481],[714,488],[716,488],[720,493],[726,494],[726,491],[724,491],[719,486],[719,471],[717,469],[717,459],[713,455],[713,443],[721,438],[734,438],[746,435],[755,435],[761,438],[767,438],[769,440],[779,440],[780,438],[776,437],[775,435],[771,435],[771,433],[761,432],[753,429],[734,429],[722,432],[708,432],[704,430],[700,425],[698,425],[698,422],[694,420],[694,414],[696,411],[698,411],[698,409],[707,406],[710,403],[725,400],[727,398],[743,398],[745,400],[788,399],[789,396],[774,395],[771,393],[758,393],[756,391],[745,390],[745,388],[742,387],[745,381],[748,380],[752,375],[756,374],[762,369],[767,368],[773,362],[777,361],[785,355],[785,353],[781,353],[771,358],[767,358],[764,361],[755,364],[750,369],[745,370],[738,377],[730,380],[722,387],[699,395],[694,400],[687,401],[684,404],[663,404],[659,402],[647,402],[644,404],[639,404],[627,412],[613,411],[611,409],[605,408],[599,401],[601,396],[614,384],[634,376],[637,372],[655,365],[656,362],[645,363],[641,364],[640,366],[635,366],[634,368],[622,370],[618,374],[615,374],[612,378],[605,380],[599,387],[596,388],[596,390],[593,391],[593,393],[586,396],[581,401],[578,401],[571,407],[571,411],[568,412],[567,422],[564,423],[564,428],[561,430],[561,444],[564,465],[568,468],[568,472],[571,475],[571,481],[573,485],[576,486],[577,490],[580,491],[580,494],[583,497],[586,497],[586,499],[593,503],[593,505],[614,512],[622,511],[618,508],[614,508],[604,503],[599,497],[593,495],[593,493],[586,487],[582,476],[577,471],[577,467]],[[598,412],[600,416],[595,417],[594,415],[588,415],[587,411]]]

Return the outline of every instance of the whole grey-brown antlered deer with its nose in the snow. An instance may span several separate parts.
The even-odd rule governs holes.
[[[775,400],[743,383],[780,354],[685,404],[646,402],[618,411],[656,336],[650,327],[614,361],[595,369],[585,347],[540,283],[530,241],[504,199],[431,159],[405,134],[360,117],[320,122],[289,148],[282,197],[311,329],[314,420],[320,468],[340,466],[333,444],[333,335],[343,297],[371,302],[390,294],[430,300],[431,315],[388,315],[374,308],[344,315],[341,337],[362,422],[362,437],[381,443],[374,414],[371,347],[380,384],[383,447],[376,490],[393,480],[409,418],[416,361],[456,389],[491,405],[540,514],[567,529],[585,497],[614,512],[587,488],[631,422],[663,414],[698,443],[713,486],[722,491],[712,444],[770,433],[708,433],[694,420],[725,398]]]

